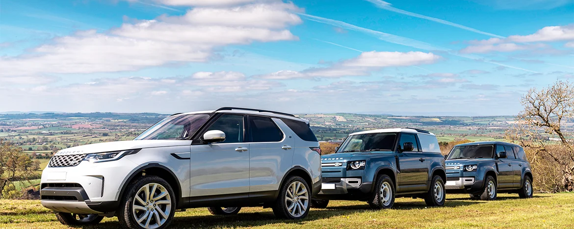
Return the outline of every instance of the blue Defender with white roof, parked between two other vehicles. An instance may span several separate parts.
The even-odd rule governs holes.
[[[436,136],[412,128],[351,133],[337,151],[321,156],[321,191],[313,207],[329,200],[359,200],[371,208],[391,208],[395,197],[423,198],[443,206],[444,157]]]

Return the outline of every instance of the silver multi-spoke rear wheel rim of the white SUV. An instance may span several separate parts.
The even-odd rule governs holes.
[[[285,206],[290,215],[300,217],[307,212],[309,206],[309,192],[300,181],[294,181],[289,185],[285,194]]]

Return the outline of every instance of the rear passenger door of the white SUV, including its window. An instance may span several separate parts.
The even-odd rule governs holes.
[[[294,139],[280,119],[248,116],[248,129],[250,196],[265,195],[265,191],[279,189],[283,175],[291,168]]]

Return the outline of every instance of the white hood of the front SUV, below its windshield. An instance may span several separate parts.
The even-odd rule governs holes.
[[[84,153],[99,153],[99,152],[112,152],[124,151],[127,149],[142,149],[142,148],[155,148],[155,147],[173,147],[179,145],[191,145],[191,141],[187,140],[131,140],[131,141],[111,141],[109,143],[96,143],[89,145],[80,145],[62,149],[55,155],[74,155]]]

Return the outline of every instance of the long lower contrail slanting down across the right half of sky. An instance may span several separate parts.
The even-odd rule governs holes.
[[[422,41],[417,41],[417,40],[413,40],[410,38],[401,37],[401,36],[393,35],[393,34],[389,34],[389,33],[383,33],[381,31],[376,31],[376,30],[371,30],[371,29],[359,27],[356,25],[351,25],[350,23],[346,23],[346,22],[342,22],[342,21],[336,21],[333,19],[317,17],[317,16],[309,15],[309,14],[302,14],[302,13],[298,13],[298,14],[304,18],[311,20],[311,21],[324,23],[327,25],[332,25],[332,26],[337,26],[337,27],[342,27],[343,29],[359,31],[362,33],[372,35],[373,37],[376,37],[379,40],[391,42],[391,43],[398,44],[398,45],[409,46],[412,48],[417,48],[417,49],[422,49],[422,50],[427,50],[427,51],[443,51],[443,52],[449,53],[449,54],[451,54],[453,56],[457,56],[457,57],[463,57],[463,58],[467,58],[467,59],[471,59],[471,60],[475,60],[475,61],[483,61],[483,62],[487,62],[490,64],[505,66],[507,68],[525,70],[526,72],[539,73],[539,72],[534,72],[533,70],[518,68],[515,66],[511,66],[511,65],[500,64],[498,62],[486,60],[482,57],[477,57],[477,56],[467,55],[467,54],[459,54],[455,50],[452,50],[452,49],[433,46],[433,45],[430,45],[430,44],[422,42]]]

